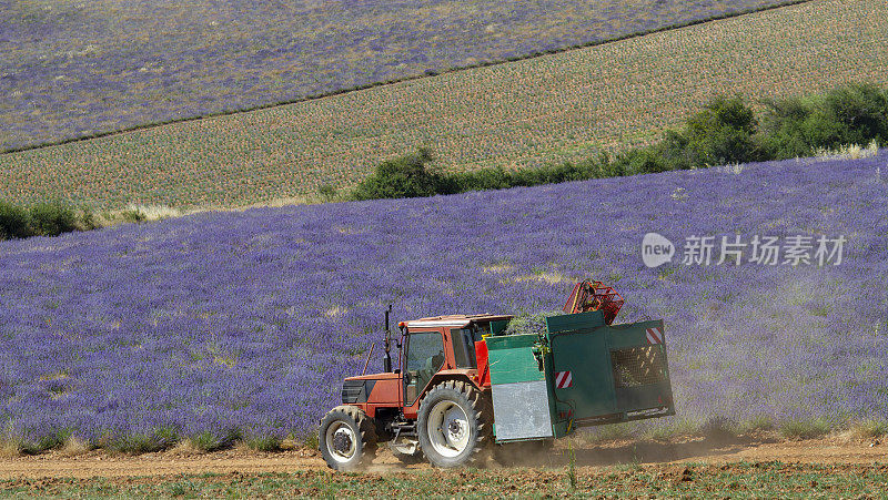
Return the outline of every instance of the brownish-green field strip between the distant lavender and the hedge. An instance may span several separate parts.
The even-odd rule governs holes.
[[[649,142],[718,93],[888,83],[879,0],[824,0],[532,60],[0,156],[0,197],[231,206],[351,185],[427,144],[467,170]]]

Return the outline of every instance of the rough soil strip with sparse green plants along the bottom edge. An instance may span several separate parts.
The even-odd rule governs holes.
[[[563,470],[423,471],[396,473],[200,475],[127,479],[14,479],[0,482],[3,496],[52,497],[355,497],[514,498],[627,497],[804,498],[878,497],[886,493],[885,465],[813,466],[781,462],[725,466],[617,466],[582,470],[571,487]]]

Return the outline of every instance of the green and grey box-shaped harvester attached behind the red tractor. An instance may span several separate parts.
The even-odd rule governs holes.
[[[487,349],[497,442],[675,415],[663,322],[610,326],[605,312],[546,318],[546,331],[501,335]]]

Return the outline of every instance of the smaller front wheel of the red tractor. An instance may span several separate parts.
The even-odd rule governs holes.
[[[376,427],[361,408],[343,405],[321,420],[321,455],[330,468],[356,470],[376,456]]]

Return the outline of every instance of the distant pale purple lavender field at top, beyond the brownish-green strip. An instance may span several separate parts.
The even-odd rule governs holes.
[[[786,2],[0,2],[0,150],[292,101]]]

